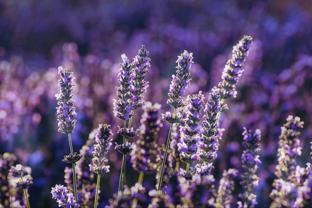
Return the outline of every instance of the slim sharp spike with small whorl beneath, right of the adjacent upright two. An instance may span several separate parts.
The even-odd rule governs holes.
[[[204,121],[202,122],[202,137],[201,137],[201,145],[200,145],[200,158],[205,163],[208,163],[214,160],[217,157],[217,144],[218,137],[216,136],[217,130],[217,114],[220,112],[220,95],[216,92],[210,93],[209,99],[206,103],[206,108],[204,109],[206,113],[204,115]],[[204,166],[198,164],[200,172],[210,173],[210,170],[204,171]],[[212,165],[205,165],[207,168],[213,168]]]

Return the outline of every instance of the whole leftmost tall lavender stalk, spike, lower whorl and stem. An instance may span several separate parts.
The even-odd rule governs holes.
[[[77,115],[75,112],[75,107],[73,107],[75,100],[72,99],[73,94],[71,94],[71,91],[73,90],[72,86],[74,86],[73,81],[75,78],[72,72],[68,72],[67,69],[63,70],[61,66],[58,68],[58,73],[61,75],[60,79],[58,80],[61,90],[59,94],[55,95],[56,99],[58,100],[57,104],[59,105],[56,108],[58,114],[58,131],[68,134],[71,153],[67,156],[64,156],[65,159],[63,161],[72,163],[75,199],[78,201],[75,162],[77,162],[81,156],[79,154],[77,155],[76,152],[74,154],[71,143],[71,133],[73,133],[76,124],[74,117]]]

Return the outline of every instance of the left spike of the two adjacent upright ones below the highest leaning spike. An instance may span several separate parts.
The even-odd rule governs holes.
[[[199,159],[198,148],[200,143],[201,126],[200,121],[201,110],[204,108],[204,96],[202,91],[198,94],[188,95],[186,99],[186,118],[183,119],[185,125],[180,126],[180,141],[178,143],[178,151],[183,162],[192,163]]]

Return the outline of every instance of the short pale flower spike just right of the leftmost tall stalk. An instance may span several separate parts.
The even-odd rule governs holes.
[[[109,172],[110,166],[106,166],[107,163],[106,153],[110,149],[113,140],[113,133],[110,129],[110,125],[100,124],[97,128],[95,135],[94,151],[92,152],[93,158],[90,164],[90,171],[97,174],[102,172]]]

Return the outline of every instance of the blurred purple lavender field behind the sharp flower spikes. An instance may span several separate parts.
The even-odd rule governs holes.
[[[166,103],[171,75],[183,50],[194,57],[186,95],[202,90],[206,102],[221,81],[232,46],[250,35],[253,45],[237,97],[227,99],[229,109],[220,117],[225,131],[213,175],[218,182],[223,170],[239,170],[232,200],[237,206],[242,192],[241,134],[243,127],[259,128],[262,163],[256,207],[269,206],[280,126],[288,115],[305,122],[297,164],[311,162],[311,25],[312,1],[1,1],[0,153],[14,153],[18,163],[32,168],[32,207],[56,207],[51,187],[65,184],[68,164],[61,160],[69,153],[67,135],[57,131],[58,66],[73,71],[76,78],[77,123],[71,138],[74,152],[79,152],[100,123],[112,126],[113,142],[123,141],[117,134],[123,122],[113,113],[121,54],[132,61],[145,45],[151,66],[144,100],[161,104],[165,113],[171,109]],[[139,128],[142,113],[135,111],[132,127]],[[166,143],[169,131],[170,125],[162,124],[158,144]],[[118,191],[122,154],[112,147],[108,159],[110,172],[101,175],[99,207]],[[126,172],[126,184],[133,186],[139,173],[130,157]],[[147,190],[155,188],[155,175],[144,177]]]

